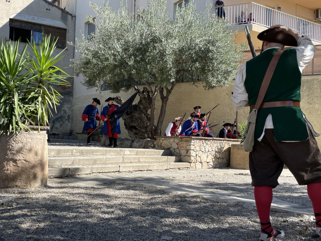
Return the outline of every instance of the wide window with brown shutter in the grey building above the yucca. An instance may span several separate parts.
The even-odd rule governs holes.
[[[27,43],[34,39],[35,43],[41,43],[42,34],[50,34],[50,41],[54,38],[58,38],[56,47],[65,48],[66,47],[66,29],[41,25],[31,22],[23,22],[20,20],[10,19],[9,20],[9,39],[13,41],[20,41]]]

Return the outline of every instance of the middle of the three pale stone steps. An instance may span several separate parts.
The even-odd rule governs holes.
[[[179,156],[51,156],[49,167],[178,162]]]

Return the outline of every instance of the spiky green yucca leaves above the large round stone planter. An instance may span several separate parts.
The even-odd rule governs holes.
[[[49,84],[68,85],[67,75],[56,63],[56,41],[43,36],[39,44],[25,44],[19,54],[19,42],[0,42],[0,134],[30,130],[29,124],[47,125],[51,109],[56,111],[61,95]],[[31,49],[31,53],[27,48]],[[61,71],[64,75],[57,75]]]

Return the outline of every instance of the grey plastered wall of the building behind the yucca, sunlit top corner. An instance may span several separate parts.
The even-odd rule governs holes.
[[[65,57],[57,62],[57,67],[66,67],[64,71],[73,76],[73,69],[69,67],[74,58],[74,47],[67,42],[74,41],[75,17],[71,13],[57,8],[46,0],[23,0],[23,1],[0,1],[0,39],[9,39],[9,19],[16,19],[41,25],[55,26],[67,30]],[[20,49],[25,43],[20,42]],[[28,50],[28,49],[27,49]],[[56,48],[55,54],[61,52]],[[57,134],[69,134],[72,129],[72,109],[70,108],[73,98],[73,77],[67,79],[71,86],[54,86],[63,95],[62,102],[57,107],[57,113],[49,119],[50,132]],[[54,111],[53,111],[54,112]]]

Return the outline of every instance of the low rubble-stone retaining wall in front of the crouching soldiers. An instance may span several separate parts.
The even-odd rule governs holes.
[[[235,139],[206,137],[157,136],[156,148],[169,149],[182,162],[191,163],[191,168],[217,168],[230,165],[231,144]]]

